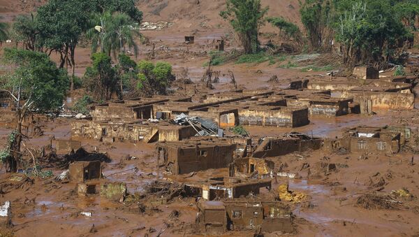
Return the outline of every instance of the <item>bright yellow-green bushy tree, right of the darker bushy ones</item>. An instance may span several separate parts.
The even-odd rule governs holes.
[[[145,94],[167,94],[175,76],[172,74],[172,65],[167,62],[152,62],[142,60],[138,62],[138,85],[137,89]]]

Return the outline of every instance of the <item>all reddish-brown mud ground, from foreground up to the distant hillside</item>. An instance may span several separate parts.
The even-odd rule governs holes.
[[[6,6],[13,9],[8,1]],[[20,8],[10,11],[1,10],[6,20],[33,7],[24,5],[20,1]],[[146,2],[146,1],[142,1]],[[203,2],[203,1],[201,1]],[[216,1],[217,3],[219,1]],[[272,1],[266,1],[272,2]],[[291,9],[288,2],[284,8]],[[291,1],[290,1],[291,2]],[[0,2],[1,3],[1,2]],[[22,5],[23,4],[23,5]],[[151,3],[150,3],[151,4]],[[10,6],[9,6],[10,5]],[[294,4],[295,5],[295,4]],[[170,5],[171,6],[171,5]],[[170,8],[169,6],[169,8]],[[175,4],[175,6],[177,6]],[[206,5],[205,5],[206,6]],[[154,5],[148,6],[154,9]],[[295,8],[297,6],[295,5]],[[289,11],[291,14],[293,10]],[[190,10],[193,10],[191,8]],[[210,9],[210,8],[209,8]],[[208,10],[208,9],[207,9]],[[216,27],[224,24],[221,21],[201,20],[186,25],[185,19],[170,15],[166,9],[161,15],[145,15],[149,20],[159,20],[166,16],[166,20],[173,20],[174,27],[161,31],[142,32],[150,43],[141,46],[137,60],[147,58],[152,52],[152,43],[156,52],[154,61],[164,60],[174,66],[175,73],[187,68],[189,77],[198,82],[205,71],[203,64],[208,62],[210,52],[214,48],[212,41],[225,36],[229,29]],[[218,12],[218,8],[214,8]],[[280,12],[280,11],[279,11]],[[282,12],[281,12],[282,13]],[[179,14],[186,14],[179,10]],[[192,14],[193,13],[189,13]],[[215,14],[215,13],[214,13]],[[170,18],[170,16],[172,18]],[[193,18],[195,17],[195,18]],[[193,16],[190,19],[197,19]],[[288,17],[292,17],[292,14]],[[214,18],[214,17],[213,17]],[[189,19],[189,20],[190,20]],[[215,18],[214,18],[215,19]],[[203,27],[200,22],[209,22],[210,27]],[[185,27],[187,26],[187,27]],[[196,30],[198,29],[198,30]],[[196,43],[185,45],[185,35],[195,33]],[[263,39],[265,40],[265,39]],[[3,45],[8,47],[8,45]],[[227,45],[227,50],[236,48],[235,43]],[[0,48],[0,50],[2,50]],[[76,74],[82,76],[87,66],[91,64],[89,47],[78,48],[76,51]],[[56,57],[53,56],[53,57]],[[225,91],[232,88],[229,83],[228,70],[235,73],[237,84],[247,89],[261,87],[283,88],[295,78],[314,76],[324,72],[302,72],[300,69],[283,69],[277,62],[270,65],[263,64],[235,64],[228,63],[215,66],[214,70],[221,71],[220,82],[214,84],[215,89],[210,92]],[[279,82],[267,82],[272,75],[277,75]],[[308,126],[297,129],[275,127],[245,127],[251,136],[279,136],[290,131],[300,131],[313,136],[334,138],[341,136],[345,128],[358,125],[384,126],[386,124],[408,125],[415,131],[418,129],[419,115],[417,110],[396,111],[378,110],[375,115],[345,115],[341,117],[310,117]],[[0,115],[1,116],[1,115]],[[68,118],[56,118],[43,122],[44,134],[40,137],[29,138],[25,141],[27,147],[40,149],[49,143],[50,138],[70,138],[70,122]],[[6,144],[6,137],[12,131],[10,127],[0,124],[0,147]],[[417,134],[417,133],[416,133]],[[416,138],[415,138],[416,139]],[[226,169],[198,172],[192,177],[182,175],[171,177],[164,168],[157,166],[157,155],[154,144],[144,143],[112,143],[105,144],[98,141],[82,140],[86,150],[106,152],[112,159],[109,164],[103,164],[103,174],[108,180],[126,182],[128,192],[143,192],[147,184],[154,180],[190,181],[196,178],[210,178],[228,175]],[[136,159],[127,160],[126,157]],[[412,163],[413,157],[413,163]],[[299,178],[276,178],[271,192],[264,190],[261,195],[277,195],[277,186],[288,182],[292,191],[302,192],[309,197],[302,203],[293,205],[295,215],[295,233],[291,236],[418,236],[419,235],[419,156],[411,150],[404,150],[397,155],[357,155],[330,154],[330,152],[316,151],[304,154],[291,154],[284,157],[272,158],[276,168],[282,164],[282,171],[297,173]],[[318,164],[334,163],[337,169],[325,173],[318,169]],[[136,169],[135,169],[136,168]],[[50,168],[47,168],[50,169]],[[64,168],[52,168],[55,175],[59,175]],[[13,212],[13,227],[9,230],[15,236],[194,236],[193,223],[197,213],[196,199],[176,198],[170,203],[158,206],[152,212],[142,213],[135,205],[113,203],[101,199],[98,195],[88,198],[79,197],[74,191],[75,184],[62,183],[54,178],[22,179],[22,175],[7,174],[1,168],[0,174],[0,203],[11,201]],[[405,188],[410,197],[396,199],[391,195],[393,190]],[[376,190],[376,194],[384,196],[378,203],[384,206],[372,206],[369,199],[362,199],[363,195]],[[360,199],[361,198],[361,199]],[[387,201],[386,201],[387,200]],[[390,200],[390,201],[388,201]],[[172,215],[173,211],[179,215]],[[80,212],[91,212],[91,217],[80,215]],[[290,234],[286,234],[290,235]],[[253,236],[251,232],[228,232],[225,236]],[[281,236],[281,233],[266,234],[265,236]]]

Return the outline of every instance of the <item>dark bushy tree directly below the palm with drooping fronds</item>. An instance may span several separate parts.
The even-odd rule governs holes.
[[[93,65],[84,73],[84,82],[87,89],[93,92],[96,99],[107,101],[112,94],[119,94],[117,71],[112,67],[111,58],[103,52],[91,55]]]

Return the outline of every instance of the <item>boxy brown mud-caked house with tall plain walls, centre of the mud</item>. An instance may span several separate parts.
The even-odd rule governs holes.
[[[209,168],[226,168],[233,162],[236,144],[217,141],[184,141],[158,143],[160,160],[174,175],[204,171]]]

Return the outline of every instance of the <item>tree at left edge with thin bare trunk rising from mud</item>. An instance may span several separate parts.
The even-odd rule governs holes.
[[[1,77],[1,90],[15,101],[17,128],[6,157],[8,171],[17,171],[22,143],[22,122],[32,110],[55,110],[64,100],[68,89],[66,71],[58,69],[42,52],[6,48],[4,63],[9,70]]]

